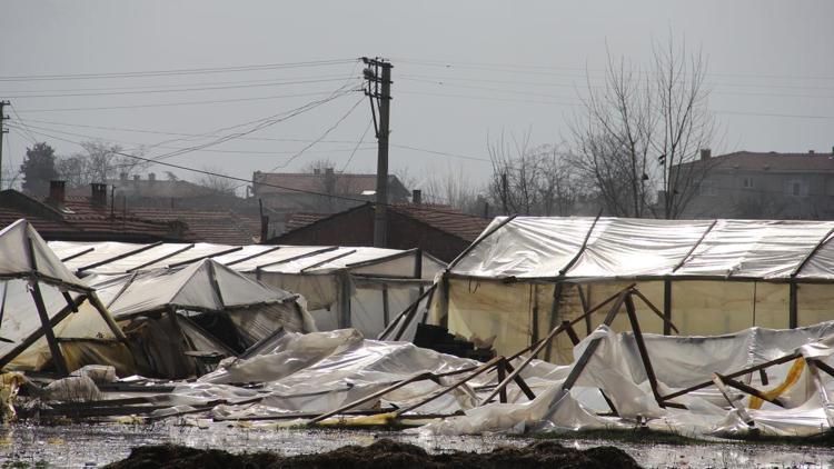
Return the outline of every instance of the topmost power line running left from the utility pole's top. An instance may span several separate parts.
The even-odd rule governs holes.
[[[236,67],[208,67],[208,68],[195,68],[195,69],[172,69],[172,70],[109,72],[109,73],[7,76],[7,77],[0,77],[0,81],[88,80],[88,79],[109,79],[109,78],[168,77],[168,76],[182,76],[182,74],[228,73],[228,72],[240,72],[240,71],[259,71],[259,70],[291,69],[291,68],[305,68],[305,67],[328,67],[328,66],[350,63],[355,61],[358,61],[358,59],[334,59],[334,60],[317,60],[317,61],[307,61],[307,62],[264,63],[264,64],[236,66]]]

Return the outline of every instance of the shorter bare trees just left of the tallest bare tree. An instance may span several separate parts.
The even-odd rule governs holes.
[[[579,193],[574,167],[557,146],[530,147],[529,141],[527,132],[489,144],[492,200],[505,213],[570,214]]]

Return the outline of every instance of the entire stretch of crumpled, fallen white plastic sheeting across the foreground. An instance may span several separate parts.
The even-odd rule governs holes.
[[[757,408],[748,395],[731,390],[729,398],[746,408],[744,412],[752,418],[753,426],[749,426],[713,386],[673,400],[685,409],[658,406],[646,380],[634,336],[615,333],[600,326],[576,346],[578,359],[592,341],[599,341],[570,390],[566,391],[563,385],[577,361],[555,366],[533,360],[522,377],[536,393],[535,399],[528,400],[512,383],[507,388],[508,403],[479,406],[497,382],[495,372],[490,371],[409,413],[464,411],[463,416],[435,420],[414,431],[433,435],[573,431],[633,429],[645,423],[658,431],[687,436],[743,437],[753,429],[765,436],[810,436],[831,429],[832,409],[823,403],[821,389],[807,367],[803,370],[797,363],[804,363],[805,358],[832,363],[834,322],[797,330],[754,328],[724,337],[648,335],[645,339],[663,395],[709,381],[714,372],[728,375],[796,350],[802,356],[797,361],[767,368],[767,383],[762,382],[758,372],[737,378],[763,392],[777,389],[776,397],[785,406],[778,408],[765,402]],[[258,356],[228,359],[197,382],[179,383],[171,395],[157,399],[172,406],[157,415],[176,413],[188,410],[187,406],[203,406],[219,399],[227,402],[210,411],[218,419],[325,413],[418,373],[438,375],[478,365],[411,343],[366,340],[353,329],[304,336],[289,333]],[[515,366],[518,365],[516,360]],[[423,401],[464,376],[440,378],[439,385],[430,380],[416,381],[353,410],[404,408]],[[259,389],[238,386],[247,382],[262,386]],[[822,390],[831,395],[834,379],[822,375]],[[616,407],[618,417],[600,415],[609,411],[600,389]]]

